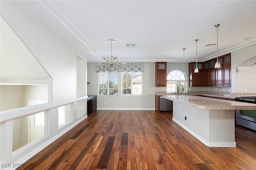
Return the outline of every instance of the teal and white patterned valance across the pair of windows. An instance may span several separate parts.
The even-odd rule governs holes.
[[[97,72],[143,72],[143,63],[97,63]]]

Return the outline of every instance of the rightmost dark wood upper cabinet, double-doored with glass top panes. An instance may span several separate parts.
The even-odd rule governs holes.
[[[216,69],[216,86],[231,86],[231,54],[218,57],[221,67]]]

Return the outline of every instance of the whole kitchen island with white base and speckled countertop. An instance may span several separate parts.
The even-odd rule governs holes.
[[[173,101],[172,120],[210,147],[236,147],[235,110],[256,104],[192,95],[163,95]]]

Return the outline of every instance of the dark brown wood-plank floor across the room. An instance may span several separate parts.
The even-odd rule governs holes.
[[[236,125],[236,145],[207,147],[173,122],[170,112],[102,110],[19,169],[255,170],[256,131]]]

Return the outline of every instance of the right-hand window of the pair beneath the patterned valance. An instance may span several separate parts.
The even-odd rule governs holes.
[[[142,95],[142,72],[122,72],[122,95]]]

